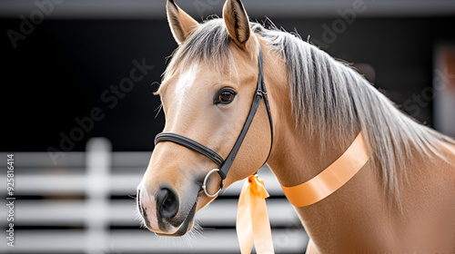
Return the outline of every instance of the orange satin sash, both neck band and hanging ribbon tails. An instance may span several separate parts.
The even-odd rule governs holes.
[[[339,190],[369,161],[363,132],[337,161],[309,181],[293,187],[281,186],[288,200],[296,207],[308,206]],[[258,254],[275,253],[268,221],[268,192],[258,175],[245,182],[238,199],[237,233],[242,254],[251,252],[253,244]]]

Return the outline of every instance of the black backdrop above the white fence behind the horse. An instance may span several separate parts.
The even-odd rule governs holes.
[[[252,18],[260,21],[264,15]],[[273,22],[288,31],[296,28],[302,38],[310,34],[323,41],[322,25],[330,26],[337,18],[281,16]],[[153,139],[164,126],[163,113],[157,114],[159,98],[153,93],[167,56],[177,47],[164,17],[45,19],[14,48],[6,32],[18,30],[21,22],[0,19],[5,126],[0,151],[47,151],[49,147],[85,151],[87,139],[98,136],[108,138],[114,151],[153,149]],[[351,63],[370,64],[375,86],[401,104],[432,85],[435,46],[455,42],[454,24],[454,15],[363,16],[325,50]],[[129,76],[134,60],[143,59],[154,69],[110,109],[101,100],[102,93]],[[63,136],[79,126],[75,119],[90,116],[94,107],[105,117],[83,132],[80,141],[62,146]],[[431,125],[431,106],[415,116]]]

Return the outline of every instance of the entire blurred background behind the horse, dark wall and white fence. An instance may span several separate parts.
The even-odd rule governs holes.
[[[243,2],[252,20],[268,17],[309,36],[404,112],[455,136],[455,1]],[[198,21],[221,16],[223,4],[177,1]],[[132,196],[164,126],[153,93],[177,47],[165,7],[165,0],[0,0],[0,161],[15,154],[16,183],[15,248],[5,241],[1,253],[238,253],[239,185],[197,215],[201,234],[157,238],[135,220]],[[272,194],[277,253],[303,253],[308,237],[297,216],[268,169],[261,177]],[[0,207],[5,226],[8,210]]]

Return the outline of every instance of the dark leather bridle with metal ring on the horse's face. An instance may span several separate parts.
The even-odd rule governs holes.
[[[272,122],[272,115],[270,112],[270,106],[268,104],[268,94],[266,90],[266,83],[264,82],[264,71],[263,71],[263,55],[262,55],[262,48],[260,44],[258,44],[259,48],[259,54],[258,54],[258,85],[256,89],[256,93],[253,98],[253,103],[251,104],[251,108],[249,109],[247,120],[245,121],[242,131],[238,135],[238,139],[235,142],[234,146],[232,147],[232,150],[229,152],[227,155],[226,160],[223,160],[223,157],[221,157],[217,151],[213,151],[212,149],[208,148],[207,146],[196,142],[192,139],[189,139],[185,136],[182,136],[177,133],[173,132],[161,132],[157,134],[155,137],[155,145],[159,142],[175,142],[179,145],[185,146],[186,148],[197,151],[198,153],[206,156],[208,159],[214,161],[217,163],[219,169],[213,169],[211,171],[208,171],[206,177],[204,178],[204,181],[201,186],[201,191],[204,190],[206,193],[207,197],[213,198],[217,196],[219,191],[223,189],[223,181],[226,179],[227,172],[229,171],[230,167],[232,166],[232,163],[234,163],[234,160],[236,159],[238,150],[240,149],[240,146],[242,145],[242,142],[245,139],[245,136],[248,133],[249,126],[251,125],[251,122],[253,122],[253,119],[255,117],[256,112],[258,111],[259,103],[264,98],[264,103],[266,104],[267,108],[267,113],[268,113],[268,122],[270,123],[270,135],[271,135],[271,142],[270,142],[270,150],[268,151],[268,156],[270,155],[270,151],[272,150],[272,144],[273,144],[273,122]],[[268,161],[268,158],[266,158],[266,161],[264,161],[264,164]],[[221,184],[219,186],[219,189],[217,192],[214,194],[210,194],[207,191],[207,180],[208,177],[214,173],[218,172],[219,176],[221,177]]]

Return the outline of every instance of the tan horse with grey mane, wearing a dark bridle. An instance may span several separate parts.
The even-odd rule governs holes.
[[[219,186],[245,179],[264,161],[284,188],[298,186],[360,137],[368,162],[324,199],[295,206],[311,239],[308,253],[455,250],[452,139],[411,120],[359,73],[314,45],[250,23],[239,0],[227,0],[223,18],[203,24],[168,1],[167,18],[178,48],[157,93],[164,132],[171,134],[160,136],[137,188],[147,229],[186,234]],[[256,105],[222,180],[212,170],[245,129],[262,70],[268,93],[260,92],[268,100]]]

